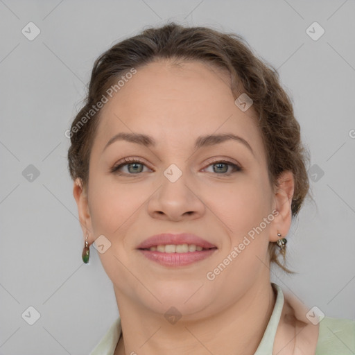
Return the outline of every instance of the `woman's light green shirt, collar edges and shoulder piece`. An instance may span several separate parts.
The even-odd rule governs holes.
[[[284,306],[282,289],[273,284],[277,297],[263,338],[254,355],[272,355],[277,325]],[[114,355],[114,350],[121,337],[121,318],[112,324],[107,334],[89,355]],[[354,355],[355,354],[355,320],[324,317],[320,321],[319,337],[315,355]]]

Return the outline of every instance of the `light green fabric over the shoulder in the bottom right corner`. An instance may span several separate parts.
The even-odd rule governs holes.
[[[355,320],[324,317],[319,325],[315,355],[355,353]]]

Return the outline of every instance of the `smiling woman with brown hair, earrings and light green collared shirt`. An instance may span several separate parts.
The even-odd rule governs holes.
[[[95,241],[120,314],[92,355],[355,351],[354,321],[270,283],[270,263],[291,272],[306,152],[241,37],[167,24],[112,46],[70,137],[83,261]]]

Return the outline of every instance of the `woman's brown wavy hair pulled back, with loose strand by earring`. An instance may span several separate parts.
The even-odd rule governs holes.
[[[309,192],[305,166],[309,153],[302,146],[300,125],[293,114],[291,99],[279,83],[277,70],[257,58],[243,37],[207,27],[169,23],[159,28],[148,28],[115,44],[98,57],[92,69],[85,105],[71,124],[68,151],[71,178],[79,178],[83,188],[87,186],[89,156],[100,114],[98,110],[87,116],[93,105],[102,100],[107,88],[132,68],[137,69],[159,59],[198,60],[227,70],[234,98],[239,96],[242,85],[243,92],[252,98],[252,110],[257,114],[255,122],[266,150],[271,186],[279,186],[277,180],[283,171],[293,173],[295,189],[291,211],[293,217],[297,216]],[[87,117],[85,124],[84,116]],[[279,262],[277,248],[276,243],[269,243],[270,262],[294,273]]]

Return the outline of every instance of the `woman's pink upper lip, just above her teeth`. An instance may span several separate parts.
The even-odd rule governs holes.
[[[150,236],[143,243],[139,244],[137,249],[149,249],[150,247],[157,245],[166,245],[166,244],[195,244],[199,245],[204,249],[217,248],[216,245],[209,243],[205,239],[202,239],[200,236],[196,236],[191,233],[180,233],[180,234],[172,234],[172,233],[162,233],[156,234],[154,236]],[[194,252],[191,252],[193,254]],[[161,253],[161,254],[173,254],[173,253]],[[187,253],[182,253],[187,254]]]

